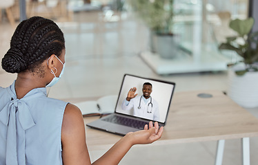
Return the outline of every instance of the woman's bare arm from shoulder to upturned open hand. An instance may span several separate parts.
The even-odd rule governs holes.
[[[144,130],[128,133],[110,150],[93,164],[118,164],[129,149],[135,144],[150,144],[161,137],[163,127],[150,122]],[[78,107],[68,104],[63,116],[61,141],[63,146],[63,164],[90,164],[90,156],[86,146],[86,135],[81,111]]]

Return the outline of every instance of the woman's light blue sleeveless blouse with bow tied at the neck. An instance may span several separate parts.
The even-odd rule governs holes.
[[[0,165],[63,164],[61,126],[68,102],[48,98],[46,88],[17,99],[14,83],[0,87]]]

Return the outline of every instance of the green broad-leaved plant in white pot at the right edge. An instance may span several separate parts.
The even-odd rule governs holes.
[[[230,21],[229,27],[237,34],[219,45],[219,50],[232,50],[242,60],[229,64],[228,96],[242,107],[258,107],[258,32],[250,32],[252,17]]]

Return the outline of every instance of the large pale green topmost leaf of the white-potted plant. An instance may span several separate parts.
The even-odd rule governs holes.
[[[230,21],[229,27],[235,30],[240,36],[244,36],[250,32],[252,25],[255,23],[252,17],[248,19],[235,19]]]

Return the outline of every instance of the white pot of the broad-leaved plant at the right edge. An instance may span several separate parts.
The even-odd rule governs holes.
[[[241,107],[258,107],[258,72],[235,74],[235,67],[228,70],[228,96]]]

